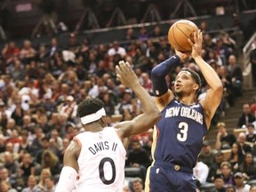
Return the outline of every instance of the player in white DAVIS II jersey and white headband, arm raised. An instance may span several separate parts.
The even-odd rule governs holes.
[[[55,192],[70,192],[75,186],[77,192],[122,191],[126,156],[122,141],[147,132],[160,119],[156,103],[140,85],[130,64],[120,61],[116,73],[121,83],[131,88],[138,97],[144,113],[132,121],[108,127],[101,100],[92,98],[79,103],[77,112],[85,132],[76,135],[68,146]]]

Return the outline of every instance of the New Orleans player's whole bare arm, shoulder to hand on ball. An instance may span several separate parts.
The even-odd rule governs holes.
[[[192,46],[191,56],[196,61],[196,64],[200,68],[204,79],[210,86],[210,89],[206,92],[205,99],[200,101],[204,107],[205,122],[209,128],[212,116],[214,116],[216,109],[220,105],[223,87],[220,81],[220,77],[216,74],[214,69],[201,57],[203,42],[203,35],[201,30],[198,30],[194,33],[195,44],[190,39],[188,39],[188,42]]]

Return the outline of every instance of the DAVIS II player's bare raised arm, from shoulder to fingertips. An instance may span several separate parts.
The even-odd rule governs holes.
[[[140,100],[144,113],[135,117],[132,121],[116,124],[118,134],[121,138],[129,137],[141,132],[147,132],[161,118],[161,114],[156,107],[156,103],[150,97],[149,93],[140,85],[138,77],[135,75],[130,64],[119,62],[116,66],[116,76],[122,84],[132,89]]]

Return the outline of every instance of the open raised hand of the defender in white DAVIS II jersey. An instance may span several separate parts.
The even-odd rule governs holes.
[[[132,85],[140,84],[139,79],[131,68],[131,65],[124,60],[120,60],[116,65],[116,76],[124,86],[132,88]]]

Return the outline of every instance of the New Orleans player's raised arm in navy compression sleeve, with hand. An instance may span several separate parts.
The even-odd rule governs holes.
[[[178,52],[168,60],[164,60],[151,71],[153,92],[156,96],[157,107],[162,110],[173,99],[173,93],[168,89],[165,76],[175,68],[181,60],[186,60],[188,53]]]

